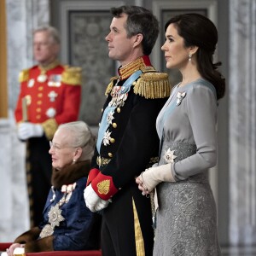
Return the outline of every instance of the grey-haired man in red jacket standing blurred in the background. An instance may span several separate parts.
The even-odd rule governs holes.
[[[15,108],[18,137],[26,141],[26,174],[31,226],[42,217],[51,177],[49,141],[58,125],[79,116],[81,70],[57,61],[60,38],[54,27],[33,33],[38,65],[20,72],[20,96]]]

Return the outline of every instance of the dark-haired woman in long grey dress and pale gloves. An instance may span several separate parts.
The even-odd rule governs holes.
[[[160,111],[160,160],[137,177],[143,195],[154,191],[155,256],[220,255],[217,214],[207,170],[217,163],[217,108],[225,81],[212,62],[218,32],[197,14],[166,23],[166,67],[183,76]],[[158,199],[158,200],[156,200]]]

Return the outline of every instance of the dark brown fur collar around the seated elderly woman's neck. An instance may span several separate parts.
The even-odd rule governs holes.
[[[61,189],[64,184],[76,182],[80,177],[87,177],[90,171],[90,160],[77,162],[64,167],[61,171],[53,168],[51,183],[55,189]]]

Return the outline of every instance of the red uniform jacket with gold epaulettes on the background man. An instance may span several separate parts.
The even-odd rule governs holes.
[[[62,66],[57,61],[46,68],[34,66],[21,71],[20,96],[15,108],[16,122],[27,120],[42,124],[50,140],[58,125],[78,119],[80,84],[80,67]],[[23,103],[22,108],[23,98],[26,103]],[[24,119],[24,112],[27,113],[27,119]]]

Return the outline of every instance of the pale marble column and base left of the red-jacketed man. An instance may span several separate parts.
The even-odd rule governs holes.
[[[14,109],[20,70],[33,65],[32,31],[49,24],[49,0],[6,0],[9,118],[0,119],[0,242],[29,229],[25,144],[17,139]]]

